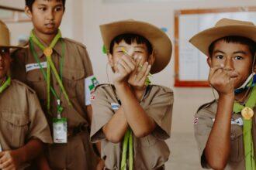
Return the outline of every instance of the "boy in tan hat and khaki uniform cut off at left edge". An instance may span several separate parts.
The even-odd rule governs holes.
[[[0,32],[0,169],[24,169],[52,138],[36,93],[9,75],[9,49],[20,47],[9,46],[9,29],[2,21]]]

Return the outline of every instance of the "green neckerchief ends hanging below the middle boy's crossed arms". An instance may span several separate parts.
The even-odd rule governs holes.
[[[128,147],[129,145],[129,147]],[[126,170],[127,150],[129,149],[129,170],[133,170],[133,132],[129,128],[123,138],[121,170]]]

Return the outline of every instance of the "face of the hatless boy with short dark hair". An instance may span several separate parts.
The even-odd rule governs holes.
[[[64,5],[61,0],[36,0],[32,12],[26,6],[25,11],[32,19],[34,29],[42,34],[55,34],[61,25]]]

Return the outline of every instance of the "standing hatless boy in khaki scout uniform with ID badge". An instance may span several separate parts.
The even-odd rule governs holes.
[[[89,99],[97,81],[86,47],[61,36],[64,5],[65,0],[26,0],[34,28],[26,48],[13,53],[12,74],[36,91],[47,115],[54,138],[50,168],[92,170],[99,158],[89,140]]]

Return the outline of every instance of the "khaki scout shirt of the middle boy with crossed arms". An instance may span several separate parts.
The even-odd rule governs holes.
[[[108,169],[120,169],[122,142],[114,144],[107,141],[102,128],[118,110],[118,104],[110,85],[96,87],[95,100],[92,100],[91,140],[102,141],[101,154]],[[167,87],[149,86],[140,105],[154,119],[157,128],[144,138],[133,135],[134,169],[157,169],[168,161],[170,154],[164,140],[170,138],[173,92]]]

